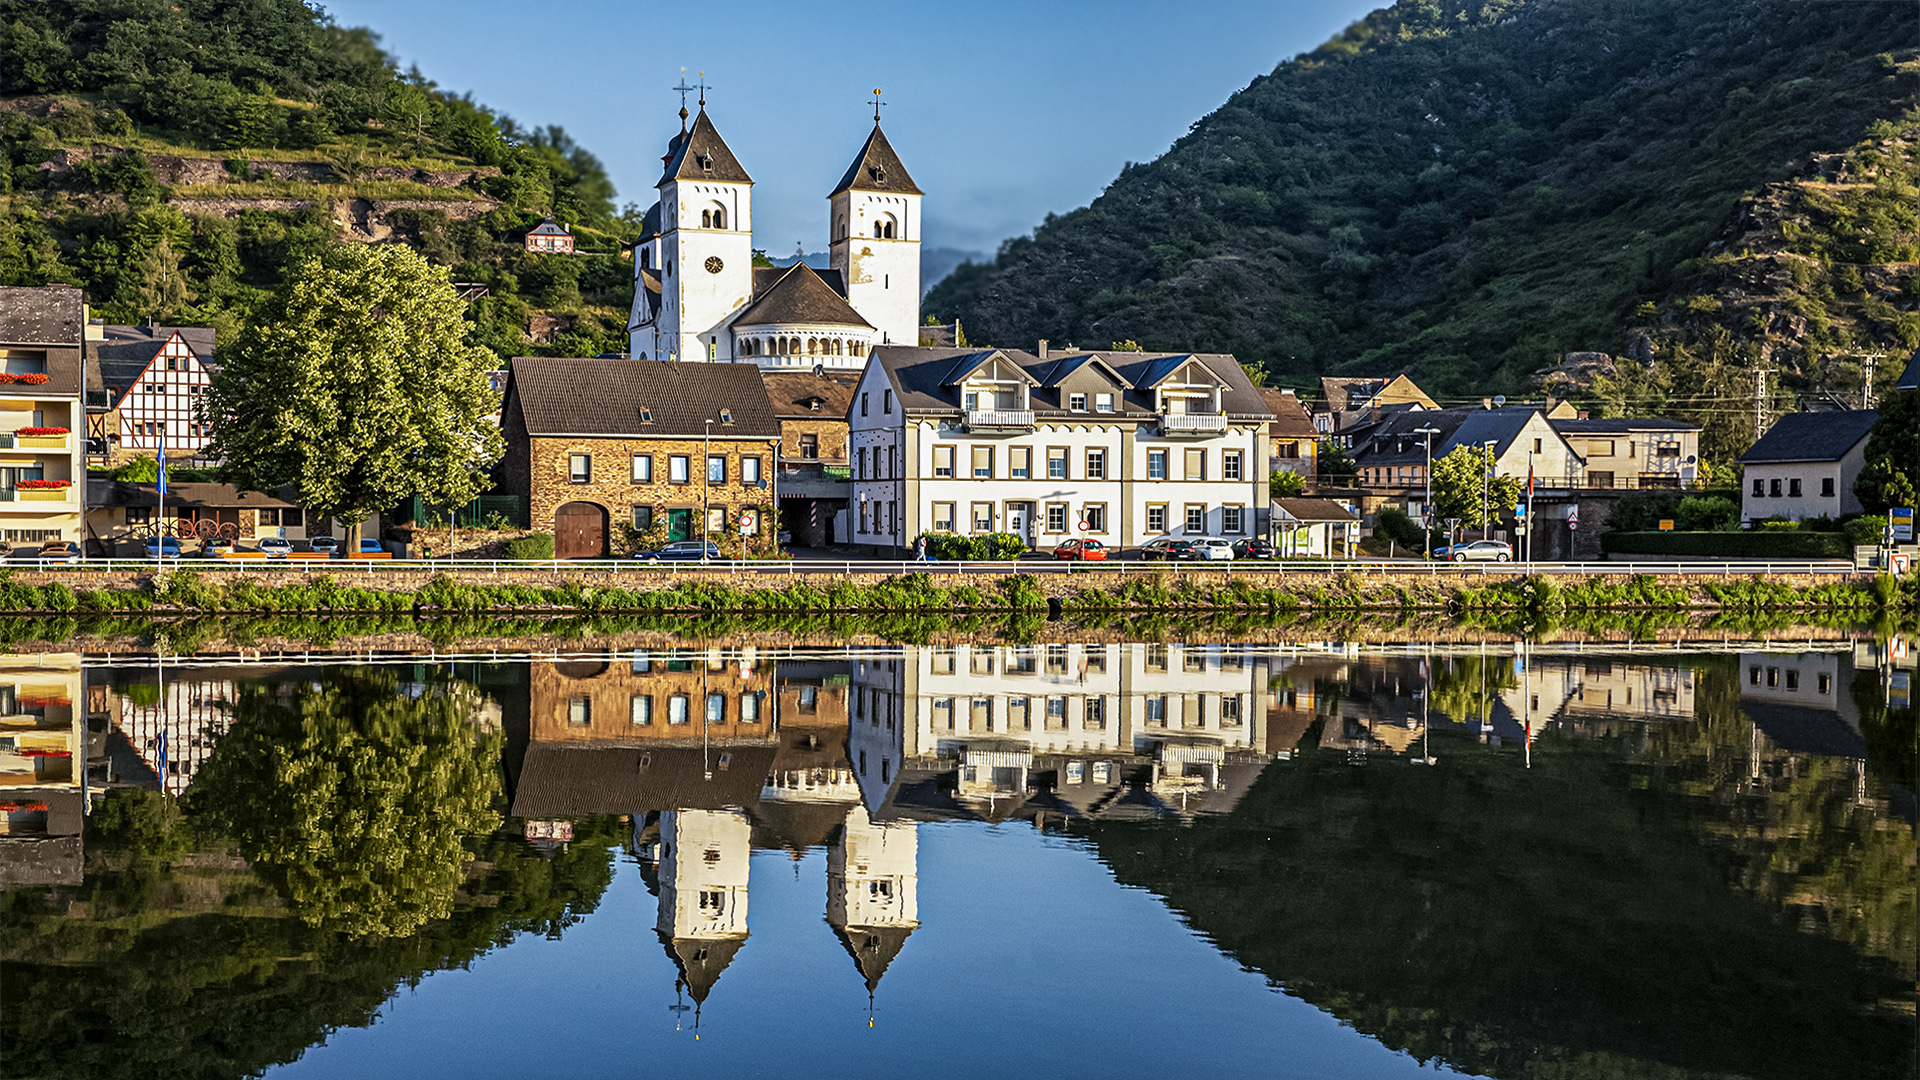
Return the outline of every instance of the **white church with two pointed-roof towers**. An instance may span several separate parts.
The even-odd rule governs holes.
[[[874,133],[828,194],[829,265],[753,265],[753,177],[707,115],[666,144],[660,200],[634,246],[634,359],[856,371],[881,344],[920,344],[920,198]]]

